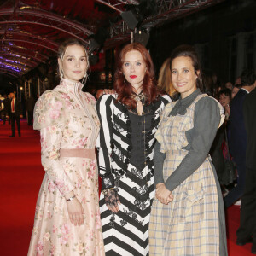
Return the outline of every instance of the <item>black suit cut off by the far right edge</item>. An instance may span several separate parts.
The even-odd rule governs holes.
[[[256,89],[247,95],[244,105],[244,122],[247,131],[246,188],[241,197],[240,227],[237,240],[253,236],[256,245]]]

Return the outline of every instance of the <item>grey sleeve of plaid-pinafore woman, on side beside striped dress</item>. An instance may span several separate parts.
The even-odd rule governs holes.
[[[164,183],[163,166],[166,154],[160,152],[160,143],[155,142],[154,145],[154,184]]]

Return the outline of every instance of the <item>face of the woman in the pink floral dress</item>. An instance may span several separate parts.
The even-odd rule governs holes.
[[[84,78],[88,67],[84,47],[75,44],[67,46],[62,60],[58,59],[58,63],[64,79],[79,82]]]

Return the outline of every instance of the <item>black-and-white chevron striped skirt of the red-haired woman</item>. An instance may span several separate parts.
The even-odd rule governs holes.
[[[116,183],[119,212],[111,212],[101,194],[100,210],[105,252],[108,256],[148,255],[148,223],[154,198],[154,176],[129,164]]]

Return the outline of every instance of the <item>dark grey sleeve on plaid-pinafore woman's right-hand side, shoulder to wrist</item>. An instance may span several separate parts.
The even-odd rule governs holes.
[[[189,137],[189,153],[175,172],[166,180],[166,188],[172,191],[197,170],[212,146],[212,142],[218,130],[220,111],[218,103],[210,98],[202,98],[195,104],[194,128],[186,132]]]

